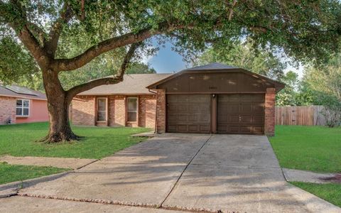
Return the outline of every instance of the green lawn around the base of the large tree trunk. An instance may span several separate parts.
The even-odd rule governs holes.
[[[71,143],[46,144],[36,141],[47,134],[48,123],[0,126],[0,155],[103,158],[143,141],[144,138],[130,135],[150,129],[72,126],[72,130],[84,138]]]

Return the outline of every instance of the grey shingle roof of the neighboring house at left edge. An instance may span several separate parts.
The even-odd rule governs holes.
[[[46,95],[43,92],[19,87],[18,85],[4,86],[0,84],[0,96],[46,100]]]

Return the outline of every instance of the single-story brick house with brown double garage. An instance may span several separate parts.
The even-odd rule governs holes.
[[[275,96],[284,84],[212,63],[175,74],[124,75],[72,101],[76,125],[141,126],[158,133],[274,135]]]

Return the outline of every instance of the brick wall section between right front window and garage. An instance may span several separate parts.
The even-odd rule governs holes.
[[[155,128],[156,95],[139,96],[139,126]]]

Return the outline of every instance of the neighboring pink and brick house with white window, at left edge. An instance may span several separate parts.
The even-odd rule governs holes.
[[[0,124],[48,121],[45,94],[16,85],[0,84]]]

